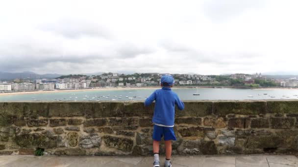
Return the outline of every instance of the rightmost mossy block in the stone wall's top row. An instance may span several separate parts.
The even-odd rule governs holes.
[[[298,113],[298,101],[268,101],[269,113]]]

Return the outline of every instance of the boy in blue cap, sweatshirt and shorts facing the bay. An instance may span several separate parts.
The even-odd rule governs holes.
[[[159,142],[164,136],[166,147],[165,167],[172,167],[171,154],[172,142],[176,140],[174,134],[175,104],[180,110],[184,109],[184,103],[180,101],[178,95],[171,90],[174,84],[172,75],[163,75],[160,79],[161,89],[155,90],[145,101],[145,106],[149,106],[155,100],[153,114],[153,167],[159,167]]]

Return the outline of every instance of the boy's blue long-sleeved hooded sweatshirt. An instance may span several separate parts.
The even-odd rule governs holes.
[[[145,106],[149,106],[155,100],[153,124],[174,126],[175,104],[180,110],[184,109],[184,103],[170,87],[162,87],[155,90],[146,100]]]

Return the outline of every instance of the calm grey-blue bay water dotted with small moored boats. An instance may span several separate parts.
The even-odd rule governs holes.
[[[94,90],[55,93],[1,95],[0,102],[15,101],[144,101],[156,88]],[[298,99],[298,89],[176,88],[181,100],[262,100]]]

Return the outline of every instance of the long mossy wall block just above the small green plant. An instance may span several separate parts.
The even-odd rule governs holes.
[[[54,148],[57,146],[57,136],[48,136],[40,133],[22,134],[15,137],[18,146],[24,148]]]

